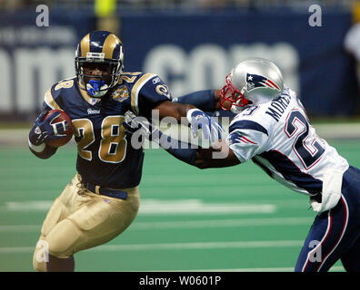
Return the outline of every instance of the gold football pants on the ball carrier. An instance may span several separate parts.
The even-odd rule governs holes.
[[[35,270],[46,270],[45,256],[39,255],[44,245],[48,254],[67,258],[105,244],[129,227],[139,209],[140,193],[137,187],[121,190],[127,192],[126,199],[97,195],[85,189],[76,174],[46,215],[33,257]]]

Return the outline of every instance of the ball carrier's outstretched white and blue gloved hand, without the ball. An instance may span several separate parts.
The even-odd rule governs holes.
[[[204,111],[199,109],[191,109],[187,111],[187,121],[190,123],[191,131],[194,137],[197,136],[198,130],[201,129],[204,133],[205,139],[210,139],[212,142],[221,139],[221,131],[225,131],[223,126],[215,121],[215,118],[210,117]]]

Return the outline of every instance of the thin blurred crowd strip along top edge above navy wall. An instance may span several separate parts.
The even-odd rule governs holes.
[[[125,8],[223,8],[223,7],[269,7],[277,5],[336,5],[350,6],[359,0],[110,0],[117,7]],[[14,10],[34,5],[91,7],[95,0],[0,0],[0,10]]]

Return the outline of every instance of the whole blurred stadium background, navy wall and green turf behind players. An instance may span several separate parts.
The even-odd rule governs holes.
[[[38,5],[48,26],[36,22]],[[321,26],[309,24],[311,5]],[[45,90],[75,74],[88,31],[118,34],[125,71],[158,73],[173,96],[219,88],[235,63],[269,58],[319,135],[360,167],[356,61],[344,47],[358,19],[356,1],[0,0],[0,271],[32,271],[46,210],[75,174],[74,142],[38,160],[27,132]],[[307,198],[251,163],[203,171],[146,150],[140,190],[133,225],[78,253],[77,271],[292,271],[315,216]]]

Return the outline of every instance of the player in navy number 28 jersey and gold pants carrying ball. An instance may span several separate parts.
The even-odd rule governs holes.
[[[154,73],[125,73],[121,40],[106,31],[86,34],[75,52],[76,76],[45,92],[41,114],[29,132],[29,148],[47,159],[56,148],[46,141],[61,138],[68,124],[55,122],[59,109],[71,118],[77,142],[76,174],[55,199],[45,218],[33,265],[36,271],[73,271],[74,254],[121,234],[139,208],[144,152],[135,150],[122,123],[125,111],[151,118],[187,117],[193,131],[217,138],[221,125],[200,109],[215,111],[218,91],[205,91],[172,102],[166,84]],[[197,102],[198,101],[198,102]],[[218,106],[218,104],[217,104]],[[210,107],[210,108],[209,108]],[[48,256],[40,251],[48,249]],[[99,266],[99,269],[101,267]]]

